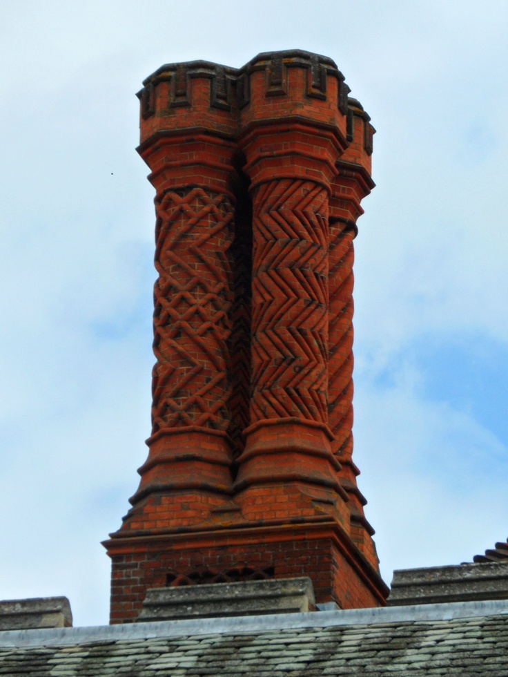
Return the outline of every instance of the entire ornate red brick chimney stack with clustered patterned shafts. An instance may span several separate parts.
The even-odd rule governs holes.
[[[111,622],[146,590],[308,575],[384,604],[353,463],[353,238],[373,127],[331,59],[162,66],[139,153],[157,213],[150,452],[119,531]]]

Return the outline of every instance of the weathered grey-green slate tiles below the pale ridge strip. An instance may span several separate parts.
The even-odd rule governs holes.
[[[508,675],[508,616],[0,649],[0,675]]]

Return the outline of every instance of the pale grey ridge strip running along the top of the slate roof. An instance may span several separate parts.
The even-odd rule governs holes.
[[[425,623],[456,618],[497,616],[499,614],[508,614],[508,600],[448,602],[404,607],[377,607],[375,609],[340,609],[338,611],[277,613],[266,616],[200,618],[41,630],[6,630],[0,632],[0,647],[49,647],[88,644],[90,642],[118,642],[342,625]]]

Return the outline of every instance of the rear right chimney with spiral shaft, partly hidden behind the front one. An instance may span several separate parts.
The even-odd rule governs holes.
[[[356,99],[349,99],[349,142],[338,160],[330,209],[329,304],[329,425],[332,448],[342,466],[339,479],[349,496],[350,535],[358,549],[375,566],[374,531],[364,516],[366,501],[358,490],[360,471],[353,462],[353,239],[356,220],[363,213],[360,201],[374,187],[371,179],[373,127]]]

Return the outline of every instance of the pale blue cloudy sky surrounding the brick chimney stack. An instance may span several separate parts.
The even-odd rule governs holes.
[[[355,265],[355,461],[382,575],[508,535],[508,3],[0,3],[0,599],[108,621],[100,544],[150,433],[164,63],[332,57],[377,129]]]

